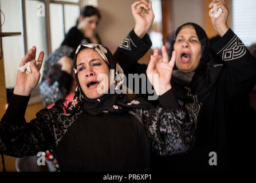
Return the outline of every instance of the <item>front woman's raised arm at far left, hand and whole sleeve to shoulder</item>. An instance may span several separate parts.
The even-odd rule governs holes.
[[[32,60],[30,73],[18,71],[17,83],[6,113],[0,122],[0,153],[14,157],[31,156],[38,152],[54,150],[68,125],[66,121],[60,122],[59,116],[64,114],[63,105],[68,104],[59,100],[58,105],[52,109],[42,109],[37,117],[26,122],[25,112],[29,102],[31,90],[37,85],[40,78],[41,65],[36,62],[36,47],[33,47],[22,59],[20,66]],[[44,53],[41,52],[38,62],[42,62]],[[61,126],[61,127],[60,127]]]

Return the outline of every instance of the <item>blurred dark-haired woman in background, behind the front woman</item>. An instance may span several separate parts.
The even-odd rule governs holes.
[[[100,19],[99,10],[93,6],[85,6],[81,10],[77,25],[68,31],[61,46],[45,61],[40,86],[44,107],[53,104],[60,98],[68,97],[67,99],[70,99],[73,97],[74,86],[76,86],[73,73],[74,51],[80,43],[101,43],[97,34]],[[57,75],[53,77],[53,75],[49,75],[50,73]],[[72,97],[69,97],[69,94]]]

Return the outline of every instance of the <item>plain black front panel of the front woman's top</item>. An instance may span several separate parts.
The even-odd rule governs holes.
[[[149,170],[150,141],[129,113],[83,113],[57,146],[62,171]]]

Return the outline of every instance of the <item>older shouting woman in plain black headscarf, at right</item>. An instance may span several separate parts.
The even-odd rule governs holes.
[[[156,170],[230,170],[249,168],[253,160],[247,147],[254,143],[250,126],[256,118],[247,98],[256,79],[256,61],[227,26],[225,2],[212,2],[222,9],[218,18],[211,18],[218,41],[210,47],[202,27],[185,23],[176,30],[172,43],[176,61],[171,90],[180,105],[191,109],[194,116],[199,114],[195,145],[180,156],[155,156]],[[143,71],[137,63],[131,67],[145,72],[145,66]],[[196,108],[194,102],[202,107]]]

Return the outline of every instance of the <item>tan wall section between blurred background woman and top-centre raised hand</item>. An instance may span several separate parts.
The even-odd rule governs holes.
[[[132,17],[131,5],[135,0],[98,0],[101,13],[99,35],[103,45],[113,52],[124,37],[133,29],[135,22]]]

